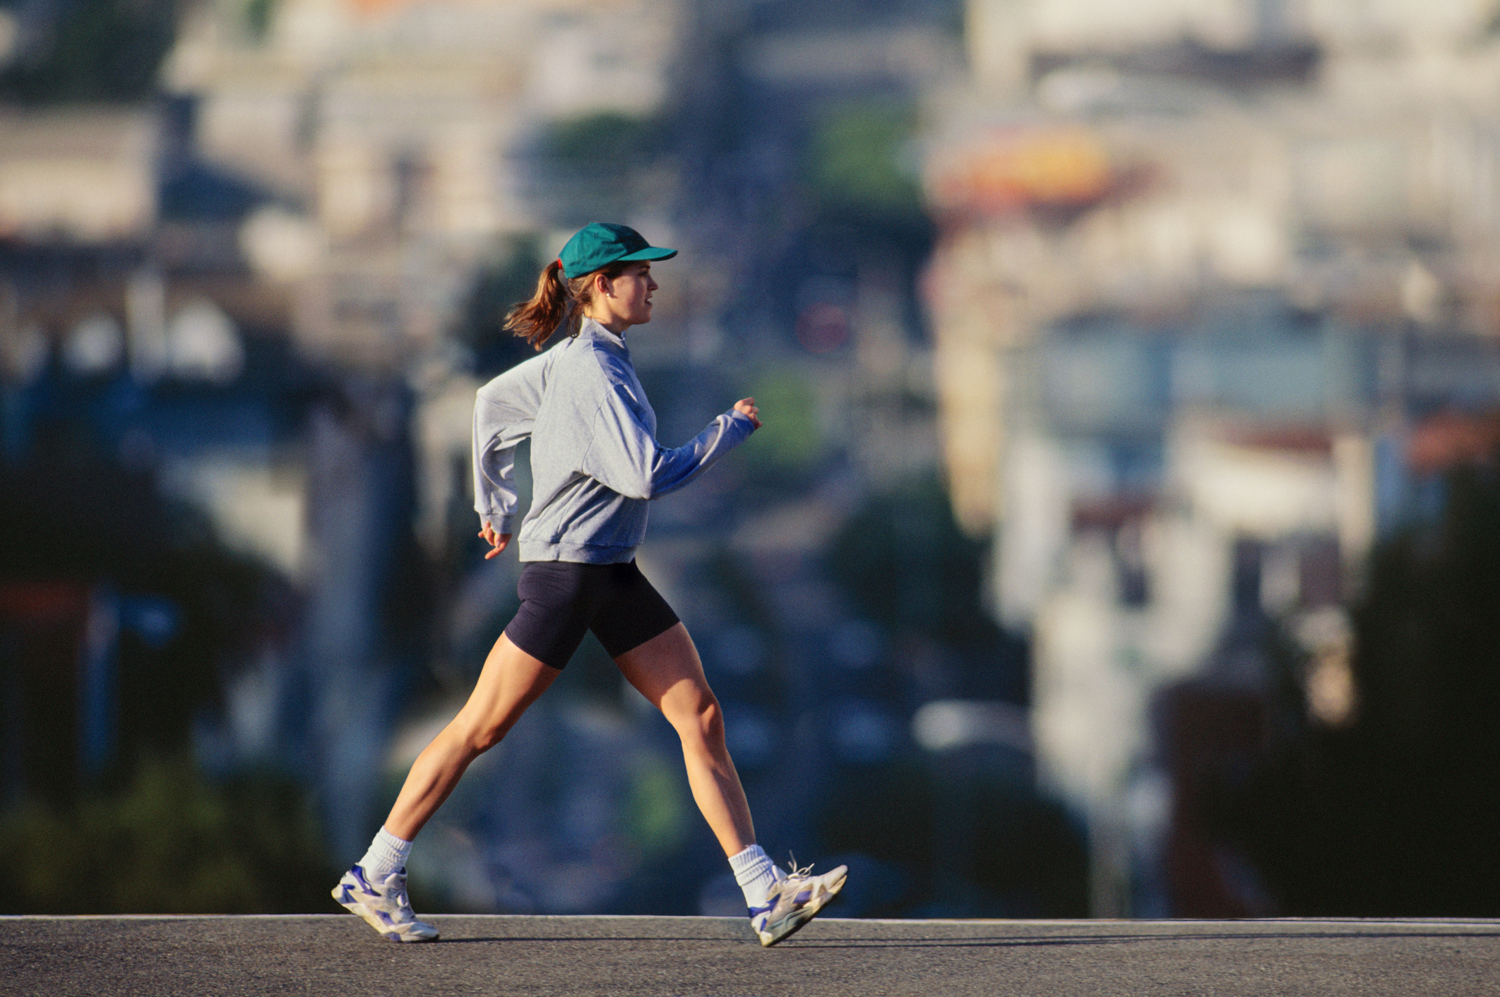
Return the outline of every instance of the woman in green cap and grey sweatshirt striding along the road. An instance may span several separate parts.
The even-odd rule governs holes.
[[[585,630],[670,721],[682,741],[693,801],[744,889],[760,945],[807,924],[843,888],[848,870],[813,876],[776,868],[754,841],[750,807],[724,748],[724,726],[687,628],[640,574],[646,501],[674,492],[760,426],[741,399],[682,447],[656,441],[656,414],[630,366],[626,330],[651,321],[651,262],[675,249],[632,228],[594,222],[548,264],[506,328],[538,351],[478,390],[474,405],[474,505],[494,558],[510,546],[514,451],[531,436],[532,502],[520,525],[520,609],[484,660],[459,715],[417,757],[396,805],[333,898],[394,942],[438,930],[406,900],[406,856],[468,765],[495,747],[561,673]]]

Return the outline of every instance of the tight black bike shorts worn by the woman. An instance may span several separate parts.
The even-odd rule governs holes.
[[[592,630],[610,658],[676,625],[676,613],[636,562],[530,561],[516,582],[520,609],[506,636],[543,664],[567,664]]]

